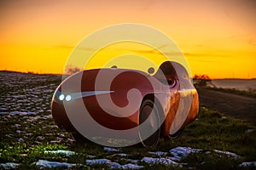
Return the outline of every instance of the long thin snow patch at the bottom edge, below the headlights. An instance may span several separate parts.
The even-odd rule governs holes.
[[[35,164],[38,167],[75,167],[76,164],[66,163],[66,162],[58,162],[58,161],[46,161],[46,160],[38,160],[36,162],[33,162],[32,164]]]

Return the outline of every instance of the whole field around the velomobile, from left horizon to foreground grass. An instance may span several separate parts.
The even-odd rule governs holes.
[[[60,82],[51,75],[1,73],[0,97],[0,164],[17,163],[19,169],[40,169],[39,160],[67,162],[73,169],[109,169],[108,163],[89,163],[108,159],[120,165],[129,163],[141,169],[255,169],[241,167],[245,161],[256,161],[256,127],[201,105],[199,117],[178,139],[161,139],[154,149],[142,146],[106,150],[97,144],[78,143],[57,126],[50,116],[50,99]],[[18,84],[18,85],[17,85]],[[172,157],[169,150],[177,146],[200,149],[177,160],[148,163],[145,157]],[[69,150],[70,154],[49,152]],[[162,151],[164,155],[155,155]],[[229,152],[224,152],[229,151]],[[236,155],[235,155],[236,153]],[[1,168],[1,167],[0,167]],[[3,168],[3,167],[2,167]],[[50,169],[62,169],[55,167]],[[47,169],[47,168],[46,168]]]

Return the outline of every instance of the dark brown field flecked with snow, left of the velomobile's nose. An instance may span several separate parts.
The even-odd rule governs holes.
[[[61,76],[0,71],[0,114],[30,115],[49,112],[49,99]]]

